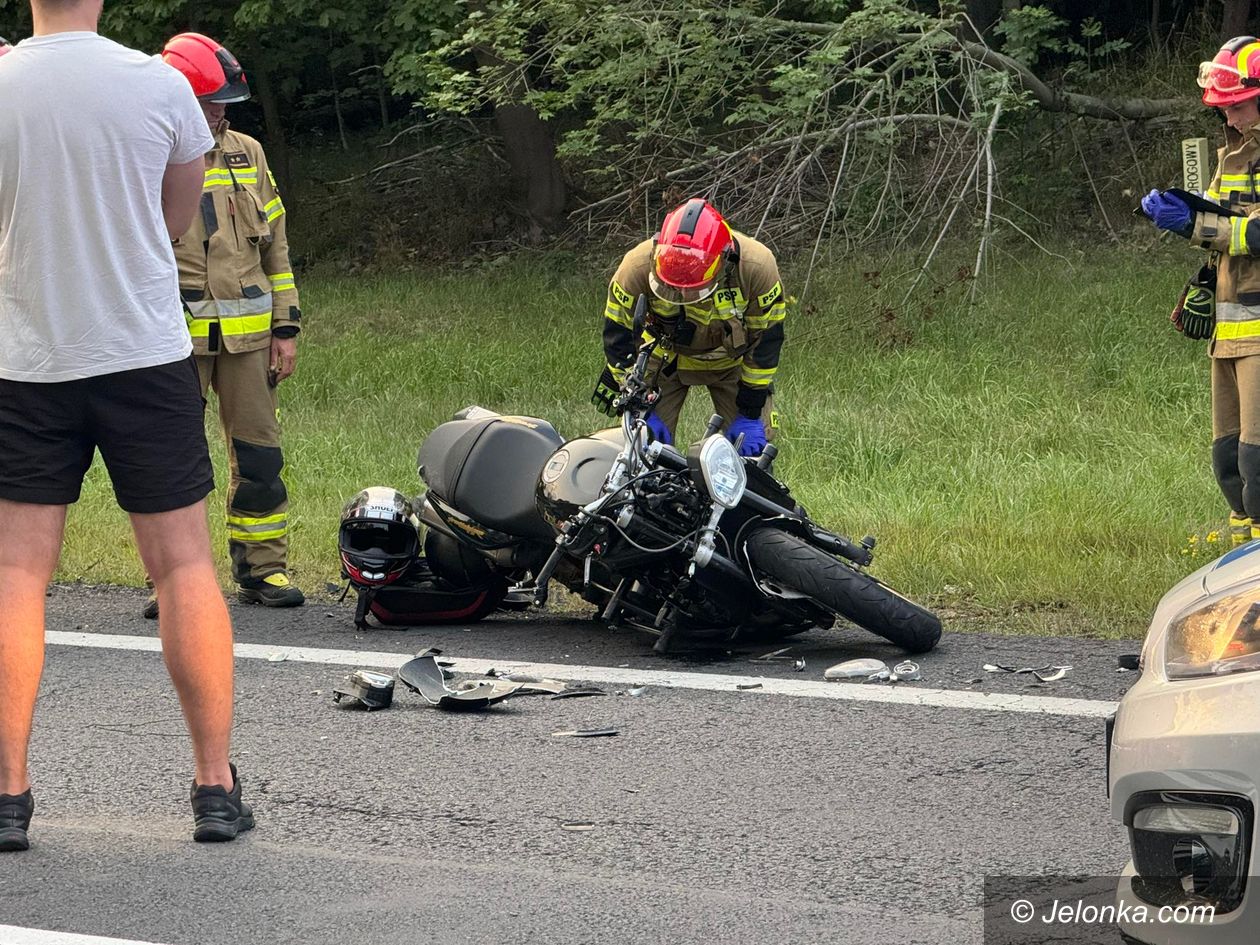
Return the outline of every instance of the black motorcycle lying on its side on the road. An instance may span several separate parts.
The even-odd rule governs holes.
[[[645,297],[634,326],[644,338]],[[837,615],[908,653],[931,650],[940,620],[867,573],[874,538],[810,519],[772,475],[772,444],[741,457],[716,415],[685,452],[650,438],[655,345],[626,372],[620,428],[566,442],[544,420],[470,407],[425,438],[420,519],[433,572],[538,606],[554,580],[605,622],[653,634],[658,653],[776,640]]]

